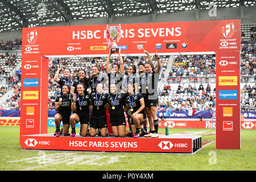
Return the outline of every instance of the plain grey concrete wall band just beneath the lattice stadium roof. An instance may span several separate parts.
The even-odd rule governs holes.
[[[109,18],[89,18],[83,20],[72,20],[70,23],[60,22],[55,24],[49,24],[47,26],[80,26],[80,25],[97,25],[97,24],[128,24],[128,23],[152,23],[155,22],[187,22],[196,20],[222,20],[222,19],[241,19],[241,23],[256,23],[256,6],[245,7],[243,18],[241,18],[241,9],[237,8],[225,8],[217,9],[217,16],[210,17],[208,15],[209,10],[200,10],[198,19],[196,19],[196,10],[180,11],[175,13],[162,13],[156,14],[154,17],[152,14],[142,16],[121,16]],[[22,30],[15,30],[10,32],[0,33],[0,41],[14,40],[16,38],[22,38]]]

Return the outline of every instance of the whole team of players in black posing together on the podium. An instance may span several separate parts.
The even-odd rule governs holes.
[[[118,51],[120,62],[113,64],[112,68],[110,68],[112,52],[109,51],[106,59],[106,77],[100,75],[97,65],[92,67],[92,74],[89,78],[85,76],[85,71],[80,69],[77,79],[73,79],[68,68],[64,69],[64,77],[59,77],[62,69],[59,66],[54,77],[54,81],[61,88],[60,94],[55,98],[57,113],[54,135],[75,137],[76,123],[80,122],[81,136],[107,137],[109,131],[106,114],[109,114],[114,137],[158,138],[156,111],[161,63],[158,53],[155,53],[157,67],[154,69],[149,53],[145,50],[144,53],[147,54],[149,61],[145,64],[139,63],[137,68],[135,65],[130,65],[125,73],[120,48]],[[104,92],[105,86],[108,92]],[[127,117],[130,130],[126,130],[125,117]],[[63,129],[60,130],[61,121]],[[150,125],[149,132],[147,122]],[[69,134],[70,126],[71,134]]]

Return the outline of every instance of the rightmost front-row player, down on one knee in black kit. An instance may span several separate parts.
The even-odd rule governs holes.
[[[143,121],[146,119],[146,114],[144,113],[144,98],[141,93],[135,93],[134,85],[127,85],[127,92],[129,96],[126,97],[126,106],[124,110],[131,110],[131,131],[134,138],[138,138],[141,134],[139,129],[143,129]]]

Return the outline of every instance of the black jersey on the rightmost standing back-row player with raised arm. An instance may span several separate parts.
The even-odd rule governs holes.
[[[158,80],[159,73],[155,71],[146,73],[146,93],[148,100],[155,100],[158,98]]]

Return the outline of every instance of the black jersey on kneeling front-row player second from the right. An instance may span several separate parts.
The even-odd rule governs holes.
[[[123,106],[125,105],[125,94],[109,94],[108,103],[111,107],[109,111],[110,118],[123,118],[125,117]]]

